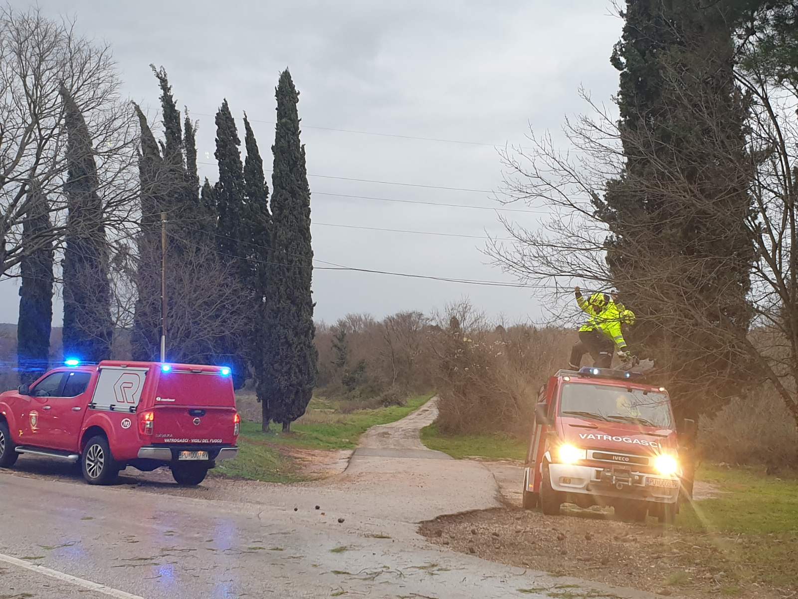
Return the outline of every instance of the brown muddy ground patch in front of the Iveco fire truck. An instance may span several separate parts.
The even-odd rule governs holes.
[[[477,510],[422,522],[435,545],[486,560],[626,586],[674,597],[798,597],[794,589],[737,580],[745,538],[689,534],[654,524],[614,520],[609,508],[545,517],[516,507]],[[535,589],[553,599],[581,599],[567,589]]]

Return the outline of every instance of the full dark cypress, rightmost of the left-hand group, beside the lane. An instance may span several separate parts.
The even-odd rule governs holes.
[[[314,303],[310,284],[310,187],[299,139],[299,94],[288,69],[280,73],[271,196],[271,248],[267,264],[267,339],[263,344],[263,422],[290,423],[305,413],[316,383]]]

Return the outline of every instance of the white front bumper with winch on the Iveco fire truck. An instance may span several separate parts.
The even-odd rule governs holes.
[[[551,464],[551,488],[563,493],[590,494],[602,498],[639,499],[657,503],[675,503],[679,480],[629,469]],[[675,481],[676,486],[654,486],[654,481]],[[674,484],[666,483],[666,484]]]

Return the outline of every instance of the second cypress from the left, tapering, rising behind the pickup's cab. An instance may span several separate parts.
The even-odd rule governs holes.
[[[83,115],[63,86],[61,97],[67,130],[64,191],[69,211],[63,263],[64,353],[99,361],[109,358],[113,337],[100,180]]]

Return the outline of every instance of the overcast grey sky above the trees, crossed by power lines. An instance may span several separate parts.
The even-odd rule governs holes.
[[[110,42],[124,93],[152,115],[158,89],[148,65],[164,65],[178,105],[199,119],[199,161],[208,163],[200,165],[201,176],[211,180],[217,177],[212,115],[223,97],[239,128],[247,111],[271,168],[274,89],[289,66],[301,94],[308,173],[403,183],[309,177],[315,256],[357,268],[512,280],[488,264],[484,240],[327,225],[501,236],[496,212],[488,210],[326,195],[494,206],[487,191],[500,184],[500,160],[490,145],[314,127],[519,144],[529,125],[557,133],[564,116],[583,110],[579,85],[601,100],[618,85],[608,58],[622,22],[610,16],[606,0],[38,0],[38,6],[53,17],[75,16],[82,33]],[[539,218],[511,214],[527,227]],[[0,321],[14,322],[16,283],[0,290]],[[528,289],[314,272],[316,315],[328,322],[346,312],[429,311],[463,296],[488,315],[539,315]],[[59,310],[56,324],[60,318]]]

